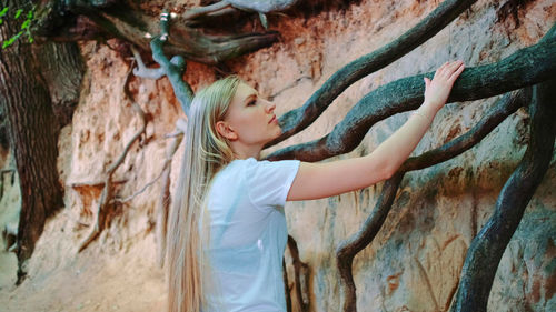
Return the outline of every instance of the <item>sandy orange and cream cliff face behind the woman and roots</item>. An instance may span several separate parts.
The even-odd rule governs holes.
[[[227,67],[257,87],[262,97],[272,99],[281,114],[302,104],[347,62],[404,33],[437,2],[369,0],[307,19],[271,17],[270,27],[282,33],[281,41],[229,61]],[[495,62],[537,42],[556,21],[554,1],[517,1],[515,14],[504,14],[508,2],[516,1],[478,1],[421,47],[351,85],[315,124],[279,147],[330,132],[361,97],[379,85],[434,70],[451,59],[463,59],[469,67]],[[4,286],[1,301],[13,309],[22,304],[28,311],[38,311],[37,306],[46,311],[157,311],[163,305],[166,288],[163,271],[155,264],[152,230],[159,182],[118,204],[97,242],[76,255],[79,241],[93,223],[103,174],[140,127],[122,91],[129,60],[99,43],[87,42],[81,48],[88,72],[73,121],[59,141],[66,208],[47,224],[30,262],[29,280],[17,290]],[[189,63],[186,80],[197,90],[216,76],[210,67]],[[165,135],[182,117],[166,78],[133,78],[130,89],[148,125],[115,174],[120,198],[157,179],[170,142]],[[495,100],[447,105],[415,154],[469,130]],[[474,149],[406,174],[383,229],[355,259],[359,311],[448,309],[466,250],[490,217],[498,192],[525,151],[528,118],[527,110],[520,109]],[[373,151],[406,119],[407,114],[399,114],[379,122],[355,151],[338,159]],[[180,154],[181,149],[173,158],[172,181]],[[553,161],[502,259],[489,311],[556,310],[555,181]],[[377,184],[287,205],[289,232],[297,240],[301,260],[310,266],[311,311],[340,309],[335,250],[361,227],[381,188]],[[33,291],[38,288],[42,292]]]

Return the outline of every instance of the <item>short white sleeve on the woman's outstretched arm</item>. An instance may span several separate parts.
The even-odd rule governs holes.
[[[259,210],[284,207],[300,161],[252,161],[246,170],[247,192]]]

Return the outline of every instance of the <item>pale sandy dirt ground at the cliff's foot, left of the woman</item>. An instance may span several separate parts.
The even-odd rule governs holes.
[[[14,286],[16,255],[2,252],[0,310],[165,311],[165,273],[145,258],[145,245],[141,242],[125,253],[101,255],[95,254],[98,252],[92,246],[90,252],[86,250],[53,270],[30,274],[20,286]],[[41,266],[53,264],[48,261],[41,259]]]

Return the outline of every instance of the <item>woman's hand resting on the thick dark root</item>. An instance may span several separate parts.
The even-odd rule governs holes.
[[[464,61],[446,62],[436,70],[433,81],[425,77],[425,102],[423,104],[439,111],[446,104],[454,81],[464,68]]]

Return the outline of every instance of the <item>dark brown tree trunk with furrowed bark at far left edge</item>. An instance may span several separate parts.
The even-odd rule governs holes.
[[[22,8],[24,1],[1,0],[0,7]],[[19,21],[7,19],[0,26],[0,40],[19,31]],[[57,56],[51,56],[56,58]],[[63,205],[58,181],[58,122],[40,63],[31,46],[17,40],[0,53],[0,109],[7,117],[8,137],[20,179],[21,212],[17,236],[18,283],[24,263],[33,252],[44,221]]]

